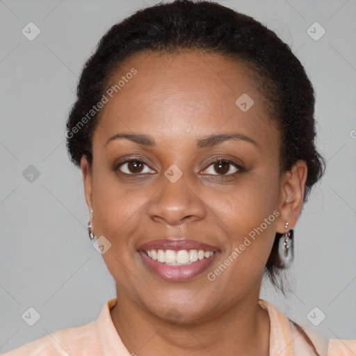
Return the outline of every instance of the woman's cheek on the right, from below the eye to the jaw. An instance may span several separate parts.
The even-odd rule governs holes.
[[[260,170],[241,179],[229,193],[211,197],[210,206],[227,236],[227,251],[209,280],[225,306],[260,285],[275,238],[279,184],[273,171]]]

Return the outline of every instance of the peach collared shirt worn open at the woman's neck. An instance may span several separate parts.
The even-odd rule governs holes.
[[[122,343],[111,319],[110,309],[117,298],[108,300],[95,321],[79,327],[58,330],[16,348],[3,356],[131,356]],[[312,356],[312,348],[284,314],[266,300],[259,300],[270,318],[270,356]],[[309,335],[310,337],[310,335]],[[311,337],[312,339],[312,337]],[[314,342],[315,340],[312,339]],[[314,343],[318,350],[319,343]],[[355,356],[356,340],[330,339],[327,354],[322,356]]]

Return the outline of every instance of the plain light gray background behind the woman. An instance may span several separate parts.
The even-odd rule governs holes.
[[[295,229],[291,291],[284,298],[266,282],[261,298],[306,332],[356,339],[356,2],[218,2],[273,29],[305,65],[316,90],[318,147],[327,159]],[[88,238],[81,172],[67,157],[65,120],[97,41],[153,3],[0,1],[1,353],[89,323],[115,297],[113,278]],[[22,34],[29,22],[41,31],[33,41]],[[314,22],[326,30],[317,41],[307,33]],[[40,173],[33,181],[23,176],[33,170],[29,165]],[[29,307],[40,314],[32,327],[22,319]],[[318,326],[307,318],[314,307],[326,315]]]

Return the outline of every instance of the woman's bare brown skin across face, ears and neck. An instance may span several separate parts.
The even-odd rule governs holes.
[[[146,53],[120,66],[113,83],[132,67],[137,74],[100,112],[92,167],[85,156],[81,160],[93,233],[112,244],[103,257],[116,283],[111,317],[118,334],[140,356],[268,355],[269,319],[257,305],[261,277],[275,233],[284,232],[286,222],[296,225],[307,166],[298,161],[280,175],[279,133],[242,63],[197,51]],[[246,112],[235,104],[243,93],[254,100]],[[156,146],[127,139],[105,145],[122,132],[145,133]],[[231,132],[257,144],[240,139],[196,147],[197,139]],[[145,163],[140,176],[132,163],[113,170],[133,156]],[[222,173],[211,164],[218,158],[232,159],[245,171],[226,163]],[[172,164],[183,173],[175,183],[164,175]],[[209,281],[207,273],[273,211],[280,216]],[[137,249],[164,236],[217,245],[220,255],[192,280],[162,280],[147,270]],[[170,323],[171,308],[177,309],[177,323]]]

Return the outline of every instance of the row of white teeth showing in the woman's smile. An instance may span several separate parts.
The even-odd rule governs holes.
[[[198,259],[208,258],[213,255],[213,251],[204,250],[148,250],[149,258],[159,261],[161,263],[170,264],[172,266],[181,266],[191,264]]]

